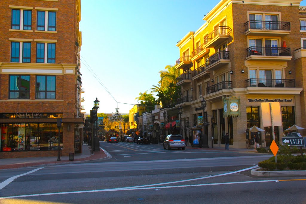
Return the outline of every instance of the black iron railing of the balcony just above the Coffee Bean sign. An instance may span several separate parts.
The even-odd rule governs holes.
[[[247,79],[246,87],[295,88],[294,79]]]

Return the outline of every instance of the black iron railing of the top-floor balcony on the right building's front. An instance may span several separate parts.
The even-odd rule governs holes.
[[[248,20],[246,23],[244,23],[244,31],[249,29],[290,31],[290,22]]]

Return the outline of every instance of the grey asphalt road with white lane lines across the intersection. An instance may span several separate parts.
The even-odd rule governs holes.
[[[251,176],[271,155],[100,145],[110,159],[0,170],[0,203],[306,203],[305,178]]]

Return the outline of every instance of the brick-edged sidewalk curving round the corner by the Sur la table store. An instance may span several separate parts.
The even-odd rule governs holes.
[[[8,158],[0,159],[0,169],[16,169],[39,165],[58,165],[58,164],[73,164],[80,163],[82,161],[92,161],[97,159],[108,158],[103,150],[94,151],[91,155],[91,147],[88,145],[82,145],[82,153],[74,154],[74,161],[69,161],[69,156],[62,156],[61,161],[57,161],[56,157],[26,157],[26,158]]]

